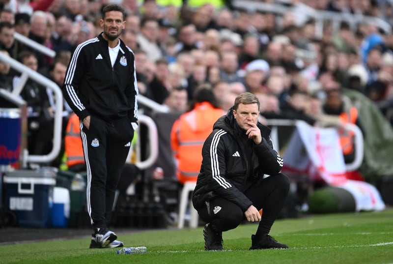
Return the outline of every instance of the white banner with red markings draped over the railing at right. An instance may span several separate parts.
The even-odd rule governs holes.
[[[298,121],[284,154],[282,171],[307,174],[313,180],[322,179],[331,186],[350,192],[356,210],[382,210],[385,204],[371,184],[346,178],[345,163],[337,130],[312,127]]]

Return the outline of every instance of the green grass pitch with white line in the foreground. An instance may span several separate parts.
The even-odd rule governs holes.
[[[126,246],[146,246],[143,255],[88,249],[88,238],[2,245],[0,264],[393,264],[392,208],[278,220],[270,235],[287,250],[250,251],[256,227],[225,232],[222,252],[203,250],[199,227],[119,235]]]

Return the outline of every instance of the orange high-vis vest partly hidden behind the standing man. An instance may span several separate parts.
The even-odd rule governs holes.
[[[67,157],[67,166],[84,163],[81,129],[79,117],[73,113],[68,119],[64,136],[64,150]]]

